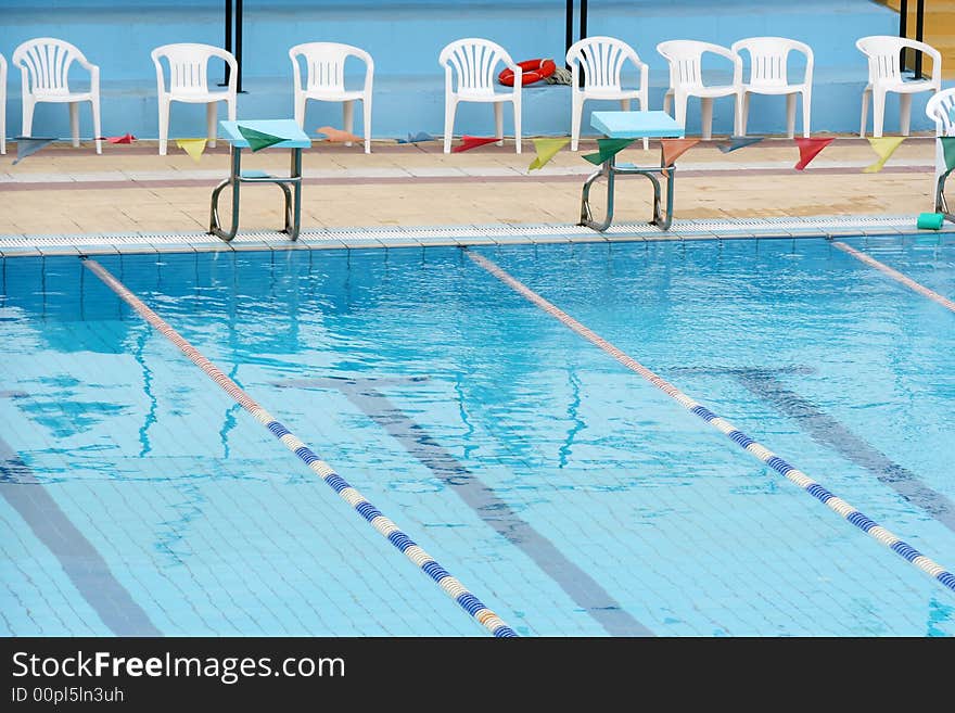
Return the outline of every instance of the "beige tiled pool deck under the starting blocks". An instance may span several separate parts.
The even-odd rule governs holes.
[[[199,163],[173,145],[160,156],[155,142],[138,141],[104,143],[102,155],[89,142],[58,143],[16,165],[9,143],[0,156],[0,254],[899,234],[919,232],[917,215],[931,211],[930,136],[906,139],[875,174],[863,173],[877,156],[857,137],[837,137],[803,171],[793,169],[792,140],[767,138],[730,153],[720,151],[724,141],[701,142],[677,161],[670,231],[647,225],[650,187],[632,178],[617,186],[606,233],[576,226],[581,186],[594,168],[581,156],[594,141],[534,171],[531,140],[520,155],[510,140],[451,154],[438,141],[375,141],[371,154],[316,142],[303,156],[300,240],[275,231],[282,221],[278,188],[246,184],[240,233],[229,244],[205,232],[209,193],[228,174],[224,142]],[[647,153],[635,147],[624,161],[659,160],[652,143]],[[246,169],[280,173],[286,165],[285,151],[244,156]]]

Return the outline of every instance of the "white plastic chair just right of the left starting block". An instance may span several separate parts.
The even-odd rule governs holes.
[[[304,58],[307,74],[302,80]],[[365,85],[359,90],[345,89],[345,60],[349,56],[365,63]],[[355,101],[361,102],[365,119],[365,153],[371,153],[371,84],[374,61],[365,50],[339,42],[305,42],[289,50],[294,78],[295,120],[305,128],[305,104],[309,99],[322,102],[342,102],[344,129],[352,133]],[[304,86],[303,86],[304,85]],[[347,141],[345,145],[351,147]]]

